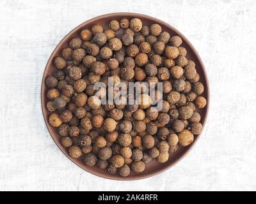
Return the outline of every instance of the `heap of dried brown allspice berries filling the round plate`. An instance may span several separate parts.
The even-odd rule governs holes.
[[[207,101],[200,96],[204,85],[195,62],[186,55],[182,38],[139,18],[81,31],[54,59],[56,71],[45,80],[49,123],[70,156],[127,177],[145,171],[152,159],[166,163],[180,146],[190,145],[202,131],[197,110]],[[106,92],[99,94],[93,85],[108,84],[109,77],[114,83],[163,82],[162,110],[155,110],[147,94],[140,105],[102,105]]]

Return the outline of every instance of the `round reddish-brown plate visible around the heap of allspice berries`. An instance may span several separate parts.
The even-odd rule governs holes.
[[[198,53],[196,52],[193,45],[191,45],[191,43],[189,43],[189,41],[183,36],[183,34],[181,34],[179,31],[177,31],[171,25],[166,24],[165,22],[158,20],[157,18],[149,17],[147,15],[141,15],[138,13],[109,13],[106,15],[102,15],[100,17],[92,18],[91,20],[84,22],[83,24],[76,27],[73,31],[68,33],[67,36],[65,36],[65,38],[63,38],[63,40],[61,40],[60,44],[55,48],[54,52],[52,53],[52,55],[47,63],[47,66],[45,68],[44,77],[42,79],[41,102],[42,102],[42,111],[44,114],[44,120],[45,120],[47,129],[49,130],[49,133],[51,134],[52,139],[54,140],[56,145],[58,145],[60,150],[63,152],[63,154],[65,154],[65,156],[68,157],[68,159],[70,159],[75,164],[77,164],[78,166],[83,168],[83,170],[93,173],[94,175],[104,177],[106,179],[137,180],[137,179],[145,179],[147,177],[152,177],[153,175],[156,175],[157,173],[161,173],[165,170],[168,170],[168,168],[172,167],[175,163],[180,161],[180,159],[182,159],[182,157],[184,157],[189,152],[189,150],[191,150],[191,148],[195,145],[195,142],[198,140],[199,136],[195,136],[195,141],[188,147],[180,147],[179,146],[179,150],[177,150],[177,152],[170,154],[170,159],[167,163],[159,164],[159,163],[157,163],[157,161],[152,161],[151,163],[147,164],[146,170],[143,173],[138,174],[138,173],[132,172],[131,175],[129,175],[129,177],[120,177],[117,173],[113,175],[113,174],[108,173],[108,171],[100,170],[97,167],[88,167],[83,163],[83,159],[73,159],[72,157],[70,157],[68,155],[67,149],[65,149],[64,147],[61,146],[61,136],[58,134],[58,129],[52,128],[52,126],[48,122],[50,113],[47,111],[47,108],[46,108],[47,87],[45,85],[45,78],[47,78],[49,75],[51,75],[55,69],[54,64],[53,64],[54,58],[57,56],[61,56],[61,50],[63,50],[63,48],[68,47],[69,41],[72,40],[72,38],[78,37],[83,29],[90,28],[90,27],[92,27],[93,24],[100,24],[106,28],[106,27],[108,27],[108,23],[110,20],[113,20],[113,19],[120,20],[121,18],[124,18],[124,17],[129,18],[129,19],[135,18],[135,17],[140,18],[143,22],[143,25],[150,25],[150,24],[154,24],[154,23],[160,24],[163,28],[163,31],[167,31],[168,33],[171,34],[171,36],[178,35],[182,38],[182,40],[183,40],[182,46],[188,50],[187,57],[188,57],[188,59],[195,61],[196,69],[200,75],[200,82],[202,82],[205,86],[205,91],[204,91],[204,94],[202,94],[202,96],[204,96],[207,99],[208,103],[204,109],[200,110],[200,115],[202,117],[201,122],[203,125],[205,125],[205,120],[206,120],[207,113],[209,110],[209,84],[208,84],[208,80],[207,80],[207,75],[205,73],[204,64],[203,64],[202,60],[200,59]]]

